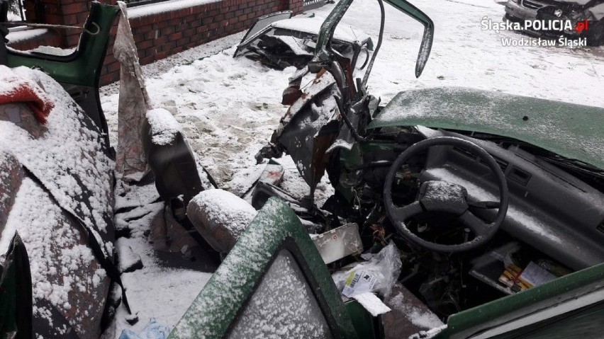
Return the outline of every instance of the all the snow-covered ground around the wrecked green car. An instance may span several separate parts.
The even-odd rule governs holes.
[[[420,79],[415,79],[414,69],[423,27],[386,5],[384,42],[369,79],[369,91],[387,103],[399,91],[410,88],[466,86],[604,107],[604,47],[503,47],[502,38],[522,36],[481,30],[484,17],[493,21],[502,18],[504,8],[498,2],[414,0],[436,27],[432,54]],[[307,14],[325,17],[332,6]],[[363,30],[377,42],[376,1],[355,1],[342,24]],[[293,67],[276,71],[249,59],[233,59],[233,46],[242,35],[143,67],[152,105],[176,117],[203,166],[221,188],[235,194],[242,193],[246,183],[259,176],[264,167],[256,165],[254,155],[286,111],[280,104],[281,92],[294,71]],[[101,89],[113,144],[117,90],[116,84]],[[293,161],[285,158],[281,163],[286,167],[286,190],[298,197],[304,195],[308,188],[299,180]],[[318,191],[323,197],[327,195],[328,183],[324,181]],[[141,251],[149,247],[141,237],[132,241]],[[123,328],[140,331],[151,317],[174,326],[210,276],[160,268],[151,251],[140,255],[145,268],[124,277],[130,304],[139,312],[140,321],[129,326],[122,310],[116,335]]]

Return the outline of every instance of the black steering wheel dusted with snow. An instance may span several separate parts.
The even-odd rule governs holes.
[[[403,163],[406,163],[418,152],[432,146],[457,146],[479,156],[496,176],[499,187],[499,202],[469,203],[467,201],[467,190],[462,185],[447,181],[425,181],[420,186],[420,191],[415,198],[415,202],[405,206],[394,205],[392,200],[392,183],[398,168],[401,168]],[[413,144],[413,146],[410,146],[396,158],[390,171],[388,171],[388,176],[386,176],[386,182],[384,183],[384,205],[386,205],[388,217],[396,227],[398,233],[418,246],[437,252],[454,253],[469,251],[490,241],[495,236],[503,219],[505,219],[505,213],[508,212],[508,197],[508,183],[495,159],[480,146],[457,137],[435,137]],[[470,212],[468,209],[469,206],[498,208],[499,211],[495,220],[488,223]],[[417,214],[430,212],[446,212],[457,216],[459,222],[474,232],[474,239],[464,243],[447,245],[426,241],[408,229],[405,224],[406,220]]]

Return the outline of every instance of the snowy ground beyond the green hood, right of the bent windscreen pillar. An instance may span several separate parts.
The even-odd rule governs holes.
[[[376,37],[379,21],[361,20],[379,16],[373,2],[355,1],[343,21],[356,19],[358,28]],[[435,23],[430,59],[423,75],[415,79],[423,26],[386,5],[384,43],[369,78],[374,96],[387,102],[410,88],[464,86],[604,106],[604,97],[595,95],[596,88],[604,86],[604,47],[503,47],[502,38],[525,36],[481,30],[483,17],[492,21],[503,17],[504,7],[494,1],[415,0],[413,4]]]

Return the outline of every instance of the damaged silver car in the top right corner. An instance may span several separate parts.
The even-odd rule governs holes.
[[[604,44],[604,0],[508,0],[505,19],[569,20],[574,28],[579,22],[587,22],[585,30],[564,30],[564,34],[573,38],[587,38],[589,45]]]

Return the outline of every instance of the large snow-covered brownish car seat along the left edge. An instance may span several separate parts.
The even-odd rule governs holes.
[[[26,68],[12,71],[52,93],[55,103],[45,125],[36,122],[26,105],[0,109],[1,154],[12,158],[0,161],[2,189],[10,190],[9,203],[4,195],[1,202],[3,209],[11,209],[6,222],[21,234],[31,267],[47,263],[47,269],[33,275],[38,283],[33,328],[45,338],[61,338],[68,328],[74,329],[71,338],[99,338],[109,278],[86,250],[89,241],[75,218],[91,229],[111,258],[113,162],[108,146],[94,122],[50,76]],[[52,289],[54,285],[62,288]]]

